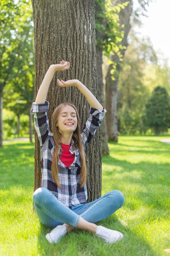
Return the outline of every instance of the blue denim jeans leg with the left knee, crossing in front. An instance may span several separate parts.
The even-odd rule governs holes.
[[[40,222],[48,227],[56,227],[63,223],[76,227],[80,216],[60,202],[46,188],[39,188],[33,194],[35,211]]]

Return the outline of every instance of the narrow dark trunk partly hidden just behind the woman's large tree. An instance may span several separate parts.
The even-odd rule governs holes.
[[[98,4],[96,2],[95,13],[100,14],[102,12],[101,1]],[[103,29],[96,29],[96,37],[98,38],[98,43],[96,45],[96,60],[97,60],[97,74],[98,74],[98,99],[102,106],[105,106],[104,99],[104,89],[103,89],[103,74],[102,74],[102,52],[103,52],[103,41],[105,38],[105,30],[106,30],[106,19],[98,15],[98,19],[100,19],[100,24],[103,26]],[[107,115],[107,114],[106,114]],[[107,125],[106,119],[104,118],[101,124],[101,137],[102,137],[102,153],[103,155],[109,155],[109,147],[108,147],[108,136],[107,136]]]

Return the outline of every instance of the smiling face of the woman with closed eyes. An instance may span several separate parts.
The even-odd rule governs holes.
[[[61,133],[73,133],[77,128],[76,111],[72,106],[66,105],[59,112],[56,126]]]

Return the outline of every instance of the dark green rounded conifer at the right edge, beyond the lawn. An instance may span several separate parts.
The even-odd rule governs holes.
[[[146,104],[146,124],[154,128],[155,134],[170,128],[170,97],[163,87],[156,87]]]

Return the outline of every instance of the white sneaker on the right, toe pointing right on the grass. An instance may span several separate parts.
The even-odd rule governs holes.
[[[98,226],[96,236],[104,239],[107,243],[116,243],[123,238],[123,234],[119,231],[107,229],[106,227]]]

